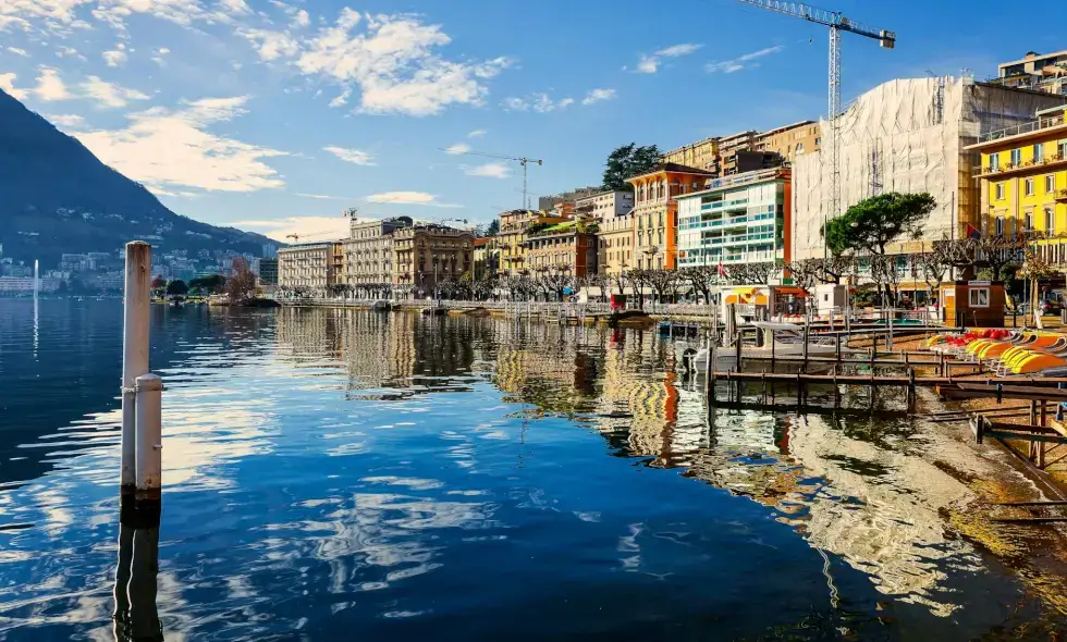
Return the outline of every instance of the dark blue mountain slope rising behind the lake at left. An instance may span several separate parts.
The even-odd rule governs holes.
[[[232,249],[259,256],[266,236],[175,214],[143,185],[100,162],[0,90],[3,256],[52,267],[63,252],[111,251],[144,239],[158,252]],[[282,244],[278,244],[282,245]]]

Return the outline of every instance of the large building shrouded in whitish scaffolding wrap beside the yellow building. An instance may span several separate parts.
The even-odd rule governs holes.
[[[892,252],[922,251],[940,238],[958,238],[976,225],[979,164],[965,151],[986,132],[1033,120],[1040,109],[1067,97],[976,83],[971,78],[891,81],[860,96],[838,118],[841,136],[839,212],[887,192],[929,192],[937,208],[920,243],[900,243]],[[822,257],[822,227],[833,218],[830,203],[832,133],[825,121],[822,148],[793,164],[793,256]]]

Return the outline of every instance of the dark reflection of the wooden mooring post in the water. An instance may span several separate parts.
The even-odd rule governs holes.
[[[115,642],[163,639],[156,607],[158,575],[159,504],[135,504],[132,497],[123,497],[112,615]]]

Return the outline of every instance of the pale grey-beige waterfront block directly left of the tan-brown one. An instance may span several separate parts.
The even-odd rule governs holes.
[[[397,217],[376,221],[353,220],[344,246],[343,283],[355,293],[380,289],[393,282],[393,233],[412,226],[412,219]],[[376,286],[371,288],[370,286]]]

